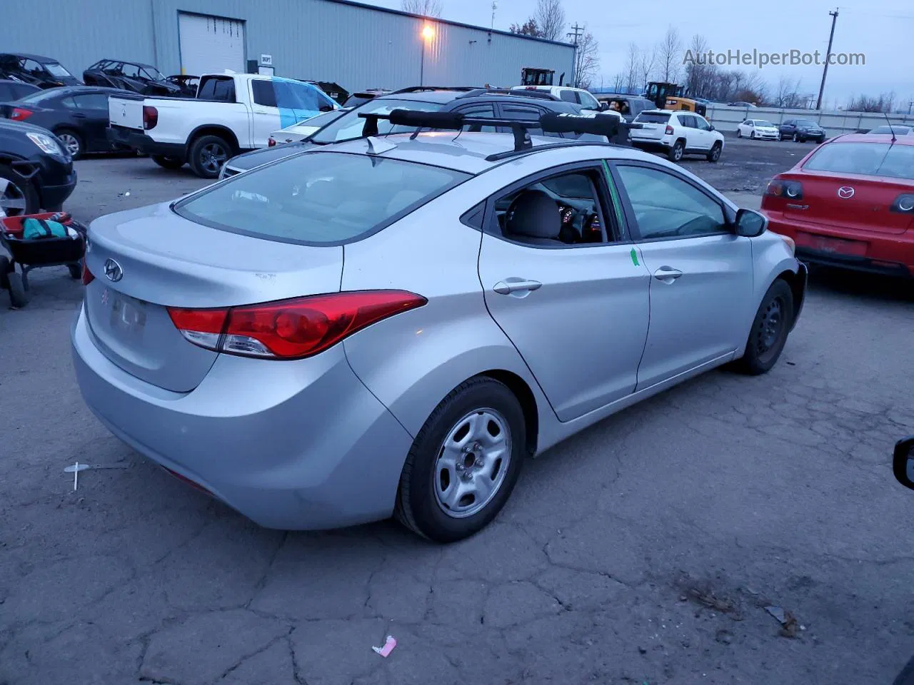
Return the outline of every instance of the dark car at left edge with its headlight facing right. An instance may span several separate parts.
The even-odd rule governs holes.
[[[75,187],[73,160],[50,132],[0,119],[0,216],[57,211]]]

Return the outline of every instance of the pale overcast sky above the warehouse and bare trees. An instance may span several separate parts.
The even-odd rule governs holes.
[[[399,0],[367,0],[375,5],[400,8]],[[442,18],[489,26],[492,0],[441,0]],[[600,42],[600,74],[606,87],[624,68],[628,44],[650,46],[663,37],[668,25],[675,26],[687,46],[700,33],[715,52],[727,50],[780,53],[791,49],[823,56],[834,10],[822,0],[800,2],[739,2],[739,0],[653,0],[644,3],[625,0],[563,0],[569,25],[587,25]],[[522,24],[536,7],[536,0],[498,0],[495,28],[507,30]],[[914,99],[914,3],[911,0],[844,0],[837,5],[834,30],[835,53],[864,53],[866,66],[831,66],[825,85],[829,109],[857,94],[878,95],[895,91],[896,101]],[[531,65],[534,66],[534,65]],[[822,67],[766,67],[761,75],[771,84],[781,75],[800,79],[803,92],[817,93]],[[600,77],[596,79],[600,84]]]

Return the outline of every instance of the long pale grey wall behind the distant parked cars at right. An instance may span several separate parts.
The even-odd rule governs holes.
[[[889,114],[888,121],[883,114],[859,111],[818,111],[818,110],[785,110],[777,107],[729,107],[728,105],[708,105],[707,120],[720,131],[736,131],[740,122],[747,119],[765,119],[777,125],[785,119],[812,119],[824,128],[828,137],[842,133],[868,131],[877,126],[884,126],[890,121],[893,125],[905,124],[914,126],[914,115]]]

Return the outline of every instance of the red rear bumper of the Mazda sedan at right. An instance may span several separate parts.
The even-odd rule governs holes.
[[[822,266],[866,271],[886,276],[914,277],[914,235],[887,234],[874,231],[851,231],[839,227],[824,227],[785,218],[782,212],[762,209],[768,216],[769,227],[775,233],[796,241],[796,256],[802,261]],[[840,238],[864,243],[865,254],[848,254],[836,250],[810,248],[802,245],[802,234]],[[798,236],[801,236],[798,239]]]

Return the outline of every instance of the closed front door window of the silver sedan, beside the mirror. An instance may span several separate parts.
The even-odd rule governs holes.
[[[727,233],[723,207],[673,174],[645,166],[619,165],[644,240]]]

